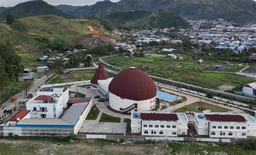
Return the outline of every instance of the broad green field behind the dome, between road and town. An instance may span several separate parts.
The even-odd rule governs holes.
[[[222,65],[225,72],[236,72],[244,66],[227,65],[221,61],[206,61],[205,64],[197,64],[190,54],[180,54],[184,60],[172,60],[165,55],[147,57],[108,57],[104,60],[112,65],[129,68],[135,66],[142,68],[147,74],[160,76],[166,79],[194,84],[201,87],[217,88],[223,84],[240,87],[254,82],[251,78],[233,73],[209,72],[215,65]],[[147,68],[149,67],[149,68]]]

